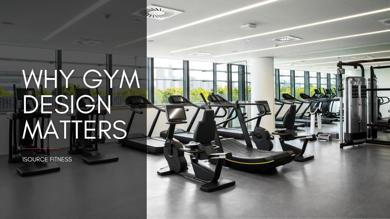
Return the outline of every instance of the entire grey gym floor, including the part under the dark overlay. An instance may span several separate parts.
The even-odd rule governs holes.
[[[0,156],[0,218],[389,218],[390,148],[338,144],[309,142],[314,159],[273,172],[223,168],[221,178],[236,185],[213,193],[179,175],[157,175],[167,166],[162,153],[145,155],[113,143],[99,151],[116,154],[118,162],[87,165],[74,155],[73,162],[59,164],[60,172],[31,177],[17,175],[21,163]],[[280,150],[277,140],[274,145]],[[66,150],[53,155],[67,156]]]

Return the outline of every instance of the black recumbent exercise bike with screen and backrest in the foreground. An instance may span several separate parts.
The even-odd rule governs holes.
[[[236,184],[231,179],[218,180],[221,174],[223,161],[225,158],[231,158],[231,153],[217,153],[211,141],[214,140],[216,131],[216,124],[214,120],[214,110],[205,110],[202,121],[199,121],[194,131],[194,141],[186,144],[183,148],[181,142],[173,138],[176,124],[187,123],[185,121],[186,113],[184,105],[172,104],[164,105],[165,113],[167,115],[169,128],[167,131],[167,138],[164,147],[164,156],[168,161],[169,170],[159,170],[158,175],[170,175],[173,173],[182,175],[184,177],[204,182],[200,186],[200,190],[212,192],[224,189]],[[199,143],[198,143],[199,142]],[[191,164],[195,174],[189,173],[187,167],[187,160],[184,157],[184,152],[190,154]],[[199,163],[199,160],[217,159],[215,170],[208,166]]]

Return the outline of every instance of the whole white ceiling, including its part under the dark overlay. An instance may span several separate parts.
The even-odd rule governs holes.
[[[16,25],[0,25],[0,44],[55,47],[117,54],[133,53],[134,51],[137,51],[137,49],[142,51],[141,48],[145,46],[144,40],[122,47],[115,46],[142,37],[141,33],[144,31],[142,28],[145,27],[145,20],[147,34],[151,35],[262,1],[263,0],[147,0],[148,5],[153,4],[184,11],[184,13],[172,18],[156,20],[149,18],[142,19],[140,16],[131,15],[134,11],[145,6],[141,4],[142,1],[110,0],[47,41],[42,39],[91,5],[95,4],[97,0],[3,1],[2,7],[0,8],[0,21],[10,21]],[[20,5],[23,5],[23,7],[20,7]],[[269,39],[287,35],[299,37],[302,38],[302,40],[280,45],[387,30],[389,29],[389,26],[379,23],[377,20],[390,18],[390,11],[264,35],[255,37],[251,39],[251,41],[243,39],[224,44],[190,49],[170,55],[170,51],[187,47],[200,46],[221,40],[245,37],[247,35],[280,30],[388,7],[390,7],[389,0],[279,0],[277,2],[249,9],[248,11],[237,12],[222,18],[213,19],[198,25],[152,37],[148,40],[154,40],[156,42],[147,44],[147,54],[154,57],[226,62],[250,60],[255,57],[291,56],[306,53],[315,54],[318,51],[327,51],[327,53],[330,53],[330,50],[334,49],[383,44],[390,42],[390,32],[379,33],[372,36],[305,44],[302,46],[280,47],[252,53],[213,57],[221,54],[229,54],[230,51],[242,52],[273,47],[276,43]],[[109,19],[104,19],[103,15],[105,14],[109,14],[111,17]],[[140,20],[140,22],[133,22],[135,19]],[[257,28],[253,30],[241,29],[240,26],[246,23],[253,23],[257,25]],[[76,46],[75,44],[70,44],[70,42],[73,42],[78,38],[102,40],[104,42],[96,46]],[[300,49],[300,51],[297,49]],[[378,49],[381,50],[380,48]],[[213,54],[195,58],[187,55],[188,53],[197,51]],[[304,56],[306,57],[306,55]]]

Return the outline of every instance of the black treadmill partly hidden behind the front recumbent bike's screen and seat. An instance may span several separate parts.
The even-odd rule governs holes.
[[[190,123],[188,124],[187,130],[183,130],[181,128],[176,128],[174,131],[173,137],[179,140],[180,142],[190,142],[193,141],[194,133],[191,131],[191,128],[195,122],[196,117],[199,114],[200,109],[204,109],[204,107],[201,107],[199,105],[196,105],[195,103],[192,103],[190,100],[185,98],[184,96],[180,95],[171,95],[168,97],[168,102],[170,104],[182,104],[184,106],[193,106],[196,107],[195,114],[192,116],[192,119]],[[188,111],[188,109],[186,109]],[[167,136],[168,130],[164,130],[160,132],[160,137],[165,138]],[[222,138],[222,137],[220,137]]]

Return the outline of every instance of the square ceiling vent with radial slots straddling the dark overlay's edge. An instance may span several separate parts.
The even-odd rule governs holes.
[[[132,14],[142,16],[142,17],[147,17],[147,18],[163,20],[181,13],[183,13],[183,11],[168,9],[157,5],[149,5],[146,8],[136,11]]]

